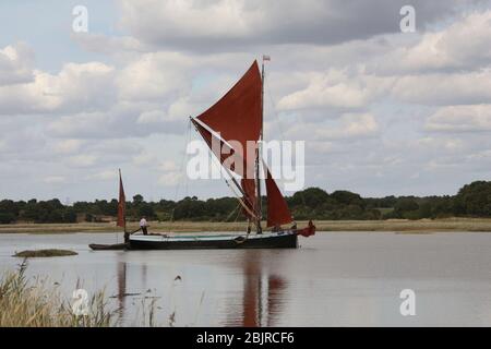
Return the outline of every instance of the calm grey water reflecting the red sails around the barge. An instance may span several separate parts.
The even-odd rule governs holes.
[[[491,233],[325,232],[278,251],[93,252],[89,242],[116,236],[1,234],[0,269],[20,263],[14,251],[75,250],[31,260],[29,275],[61,282],[67,298],[77,280],[106,288],[124,325],[156,299],[163,325],[175,312],[181,326],[491,326]],[[406,288],[416,316],[399,313]]]

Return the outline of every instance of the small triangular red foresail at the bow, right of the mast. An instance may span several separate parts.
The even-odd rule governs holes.
[[[266,171],[267,227],[279,227],[289,224],[294,221],[294,218],[288,209],[285,197],[282,195],[267,167],[264,166],[264,168]]]

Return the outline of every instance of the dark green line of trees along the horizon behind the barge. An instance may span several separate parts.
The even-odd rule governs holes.
[[[309,188],[287,196],[297,220],[373,220],[421,219],[445,217],[491,217],[491,182],[476,181],[464,185],[455,195],[361,197],[349,191],[327,193]],[[263,197],[264,216],[266,202]],[[58,198],[37,201],[0,201],[0,224],[98,221],[116,217],[118,201],[76,202],[63,205]],[[199,200],[188,196],[180,201],[146,202],[140,194],[127,202],[127,218],[137,220],[235,221],[244,219],[235,197]],[[101,218],[103,217],[103,218]]]

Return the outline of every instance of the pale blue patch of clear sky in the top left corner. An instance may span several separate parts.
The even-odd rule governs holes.
[[[36,52],[36,67],[57,72],[64,62],[107,61],[107,57],[88,52],[71,39],[74,16],[80,1],[2,1],[0,3],[0,46],[25,41]],[[84,1],[91,9],[89,31],[119,35],[118,8],[111,0]]]

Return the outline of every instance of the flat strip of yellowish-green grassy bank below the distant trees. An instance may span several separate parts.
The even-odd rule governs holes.
[[[447,219],[390,219],[390,220],[315,220],[318,231],[396,231],[396,232],[436,232],[436,231],[491,231],[491,218],[447,218]],[[307,226],[299,221],[298,227]],[[209,221],[163,221],[151,222],[151,231],[194,232],[194,231],[244,231],[244,222]],[[128,225],[128,230],[137,228],[136,222]],[[69,233],[69,232],[116,232],[121,231],[115,224],[19,224],[0,225],[0,233]]]

